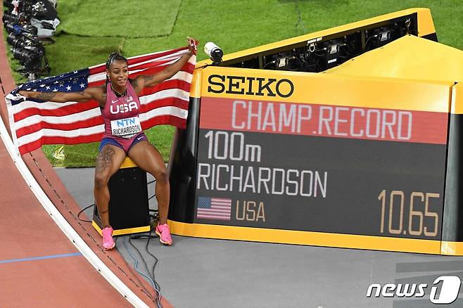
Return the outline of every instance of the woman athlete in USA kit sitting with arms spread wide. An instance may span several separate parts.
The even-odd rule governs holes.
[[[137,166],[156,178],[159,222],[156,233],[160,243],[172,245],[167,212],[169,210],[170,186],[167,169],[158,150],[148,142],[141,130],[139,120],[139,94],[145,86],[154,86],[175,75],[196,54],[198,41],[188,38],[189,52],[179,60],[153,75],[129,78],[127,59],[119,53],[111,53],[106,62],[107,82],[102,86],[89,86],[81,92],[34,92],[19,91],[22,96],[44,101],[65,103],[68,101],[97,101],[101,108],[105,131],[99,155],[96,158],[94,196],[101,224],[103,225],[103,248],[114,248],[113,228],[109,222],[108,181],[128,156]],[[124,123],[121,127],[121,123]]]

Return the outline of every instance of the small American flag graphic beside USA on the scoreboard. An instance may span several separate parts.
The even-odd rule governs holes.
[[[230,220],[232,199],[198,197],[197,218]]]

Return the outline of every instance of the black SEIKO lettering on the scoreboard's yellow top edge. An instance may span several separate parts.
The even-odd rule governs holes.
[[[294,84],[289,79],[274,79],[242,76],[209,76],[208,92],[227,94],[246,94],[255,96],[280,96],[293,94]]]

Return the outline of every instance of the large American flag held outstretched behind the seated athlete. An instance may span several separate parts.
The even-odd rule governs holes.
[[[153,74],[174,63],[188,48],[149,53],[128,58],[129,77]],[[191,78],[196,64],[192,56],[182,70],[156,86],[146,87],[140,94],[142,129],[158,124],[186,126]],[[21,155],[42,144],[76,144],[100,141],[104,131],[103,117],[96,101],[85,103],[53,103],[32,98],[18,98],[20,90],[82,91],[88,86],[106,82],[106,64],[46,77],[20,85],[5,98],[10,117],[13,141]]]

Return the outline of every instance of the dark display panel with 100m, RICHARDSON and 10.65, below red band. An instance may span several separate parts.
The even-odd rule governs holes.
[[[438,239],[445,155],[438,144],[200,129],[196,203],[231,208],[229,220],[195,222]]]

